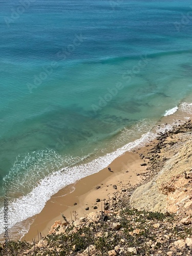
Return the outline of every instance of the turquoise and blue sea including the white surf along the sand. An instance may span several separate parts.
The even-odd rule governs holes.
[[[21,3],[1,1],[0,14],[0,196],[10,227],[129,150],[192,92],[190,1]]]

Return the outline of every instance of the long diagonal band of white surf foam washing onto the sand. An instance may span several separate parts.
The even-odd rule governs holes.
[[[13,227],[18,222],[22,222],[38,214],[51,196],[57,193],[59,189],[86,176],[99,172],[99,170],[107,167],[115,158],[119,157],[124,152],[145,144],[147,141],[155,138],[155,136],[155,134],[146,133],[140,139],[124,145],[113,153],[106,154],[106,156],[99,157],[86,164],[58,170],[56,173],[44,178],[33,188],[31,193],[9,202],[9,228]],[[3,216],[3,208],[0,211],[0,215]],[[1,219],[0,234],[4,232],[3,226],[3,219]]]

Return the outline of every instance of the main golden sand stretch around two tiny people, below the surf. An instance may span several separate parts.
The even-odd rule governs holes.
[[[96,174],[59,190],[46,203],[40,214],[35,216],[35,220],[23,240],[38,239],[39,233],[43,237],[46,236],[53,223],[62,220],[60,213],[69,221],[75,220],[75,218],[83,217],[89,212],[102,210],[104,200],[108,201],[113,195],[129,193],[136,185],[146,179],[147,165],[144,164],[147,164],[147,159],[142,159],[140,155],[147,153],[156,143],[156,140],[152,141],[150,145],[146,145],[135,152],[126,152],[116,158],[110,164],[111,172],[108,168],[104,168]],[[100,199],[100,202],[96,202],[96,199]],[[89,209],[86,210],[87,207]]]

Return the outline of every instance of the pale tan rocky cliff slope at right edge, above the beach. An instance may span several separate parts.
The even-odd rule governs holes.
[[[191,216],[192,206],[192,135],[191,122],[175,128],[161,138],[150,152],[150,168],[158,174],[138,187],[130,203],[137,209],[171,212]]]

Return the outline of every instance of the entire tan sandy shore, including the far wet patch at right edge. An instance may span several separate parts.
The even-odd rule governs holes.
[[[112,172],[108,170],[108,167],[105,167],[93,175],[60,189],[46,203],[40,214],[33,217],[34,221],[23,240],[38,240],[39,233],[43,237],[46,236],[55,221],[62,221],[61,214],[67,220],[72,221],[89,214],[89,212],[103,210],[104,202],[109,202],[114,195],[117,197],[127,196],[136,187],[146,183],[156,172],[152,169],[149,170],[150,159],[144,156],[159,143],[157,138],[161,134],[172,131],[175,126],[182,126],[186,120],[192,117],[191,105],[186,106],[188,108],[182,107],[177,112],[173,111],[159,121],[159,124],[154,128],[155,131],[157,130],[154,139],[138,144],[131,151],[125,152],[112,161],[110,164]],[[113,187],[114,185],[117,186],[116,189]],[[100,199],[100,202],[96,202],[96,199]],[[97,208],[94,209],[94,206]],[[86,210],[87,207],[89,209]]]

